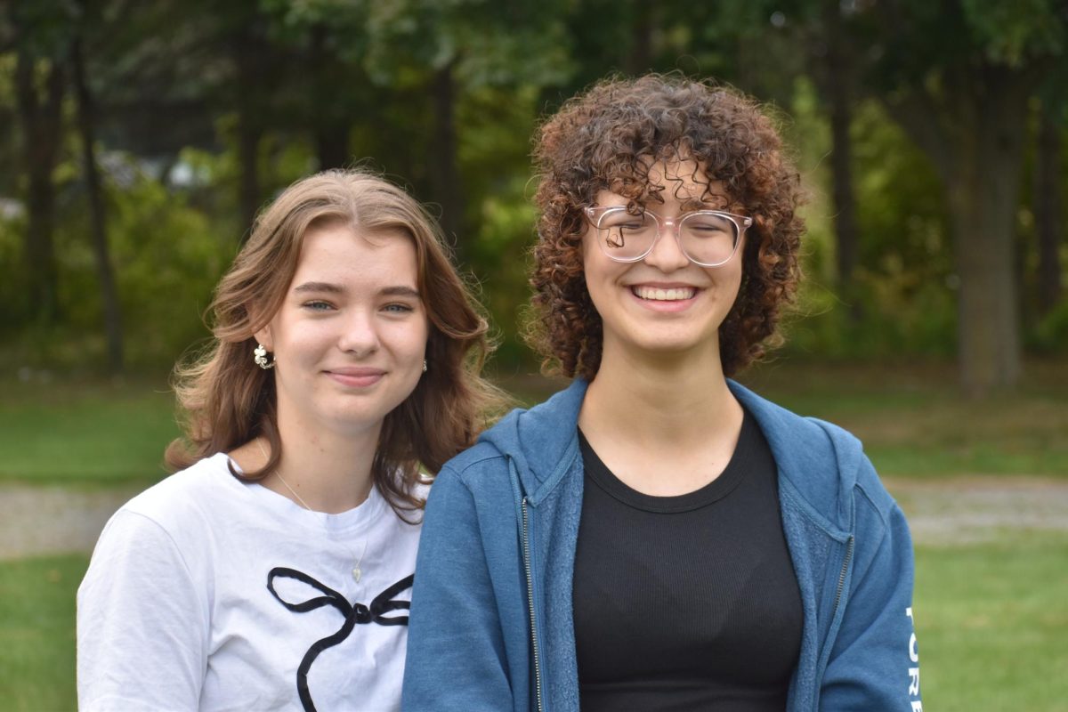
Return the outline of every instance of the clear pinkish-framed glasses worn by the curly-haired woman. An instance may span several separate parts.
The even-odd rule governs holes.
[[[664,227],[674,228],[675,241],[690,262],[701,267],[720,267],[731,262],[741,236],[753,224],[745,216],[723,210],[692,210],[664,218],[653,210],[634,213],[625,205],[584,208],[597,230],[597,244],[615,262],[639,262],[653,252]]]

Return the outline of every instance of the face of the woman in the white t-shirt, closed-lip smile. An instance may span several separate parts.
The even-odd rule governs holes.
[[[280,426],[380,428],[419,383],[427,335],[407,235],[313,226],[282,306],[256,333],[274,353]]]

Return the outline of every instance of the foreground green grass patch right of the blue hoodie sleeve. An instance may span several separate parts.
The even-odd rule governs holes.
[[[914,600],[924,709],[1068,710],[1068,536],[921,547]]]

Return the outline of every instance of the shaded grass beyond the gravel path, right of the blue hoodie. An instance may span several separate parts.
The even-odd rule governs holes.
[[[952,364],[767,364],[741,380],[851,431],[882,475],[1068,477],[1068,364],[1035,362],[1015,393],[970,400]]]

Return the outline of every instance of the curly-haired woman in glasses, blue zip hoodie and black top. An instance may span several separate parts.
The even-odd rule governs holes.
[[[608,81],[535,157],[536,342],[574,382],[438,475],[404,709],[920,709],[900,509],[854,438],[728,380],[798,282],[771,122]]]

